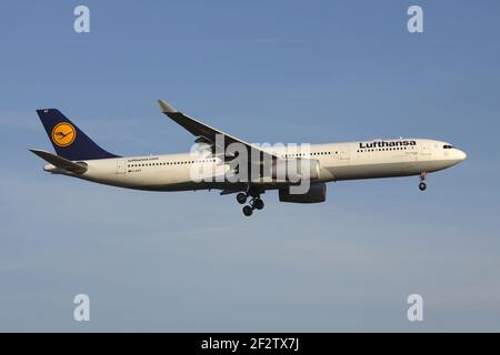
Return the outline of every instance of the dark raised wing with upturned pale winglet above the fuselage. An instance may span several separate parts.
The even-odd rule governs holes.
[[[248,151],[250,150],[257,150],[262,152],[263,154],[268,154],[272,158],[277,158],[276,155],[266,152],[264,150],[253,146],[250,143],[247,143],[243,140],[240,140],[238,138],[234,138],[232,135],[229,135],[228,133],[224,133],[222,131],[219,131],[214,128],[211,128],[208,124],[204,124],[198,120],[194,120],[193,118],[190,118],[189,115],[183,114],[182,112],[176,110],[170,104],[164,102],[163,100],[159,100],[158,103],[160,104],[161,111],[168,115],[172,121],[180,124],[182,128],[184,128],[188,132],[197,136],[196,142],[197,143],[209,143],[211,145],[218,144],[216,136],[219,134],[223,136],[224,146],[219,146],[220,149],[223,149],[226,152],[226,149],[231,143],[240,143],[247,146]]]

